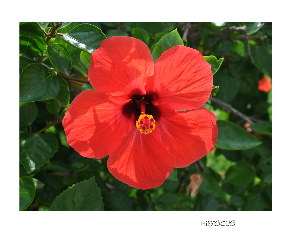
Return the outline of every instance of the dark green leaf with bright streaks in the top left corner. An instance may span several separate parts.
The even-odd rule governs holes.
[[[19,25],[19,52],[26,57],[42,56],[47,45],[44,33],[37,22]]]

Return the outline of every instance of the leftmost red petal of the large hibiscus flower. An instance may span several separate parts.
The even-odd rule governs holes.
[[[132,129],[133,123],[123,115],[122,107],[111,95],[95,90],[77,95],[62,121],[69,145],[84,157],[109,155]]]

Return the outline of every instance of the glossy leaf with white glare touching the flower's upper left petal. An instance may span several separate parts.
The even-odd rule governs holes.
[[[80,24],[61,37],[64,41],[92,54],[99,48],[103,39],[106,39],[101,29],[91,24]]]

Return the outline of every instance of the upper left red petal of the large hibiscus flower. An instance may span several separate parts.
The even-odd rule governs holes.
[[[153,75],[154,63],[141,40],[113,36],[103,40],[90,59],[89,80],[98,93],[111,93],[116,100],[146,94],[145,80]]]

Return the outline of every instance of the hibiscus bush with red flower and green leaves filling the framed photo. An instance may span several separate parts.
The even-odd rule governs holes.
[[[272,210],[271,22],[20,22],[20,210]]]

